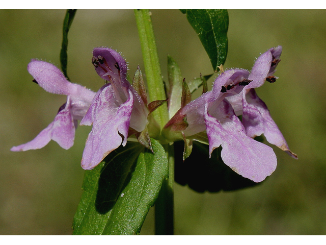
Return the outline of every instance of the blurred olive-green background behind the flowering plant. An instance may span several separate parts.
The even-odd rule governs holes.
[[[10,152],[55,117],[65,96],[32,83],[31,58],[59,65],[65,10],[0,10],[0,234],[71,234],[82,194],[80,159],[91,127],[79,127],[68,151]],[[197,193],[175,185],[177,235],[326,234],[326,11],[230,10],[226,68],[250,69],[260,53],[282,45],[276,83],[257,89],[299,160],[274,148],[278,167],[263,184],[234,192]],[[167,55],[187,80],[211,74],[199,38],[178,10],[152,10],[162,76]],[[78,10],[69,33],[68,76],[97,91],[103,85],[92,50],[121,52],[133,76],[143,67],[132,10]],[[144,70],[143,70],[144,71]],[[210,85],[213,79],[210,79]],[[200,163],[199,166],[200,167]],[[150,210],[141,234],[154,234]]]

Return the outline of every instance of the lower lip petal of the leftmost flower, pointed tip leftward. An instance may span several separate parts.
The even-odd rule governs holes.
[[[73,145],[75,137],[74,121],[70,112],[71,100],[68,96],[67,103],[59,110],[55,119],[43,129],[32,141],[14,146],[11,151],[28,151],[43,148],[51,139],[58,142],[64,148],[69,149]]]

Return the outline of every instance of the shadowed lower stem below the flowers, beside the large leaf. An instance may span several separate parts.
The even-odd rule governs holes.
[[[165,145],[169,161],[169,178],[164,180],[155,202],[155,235],[174,233],[174,145]]]

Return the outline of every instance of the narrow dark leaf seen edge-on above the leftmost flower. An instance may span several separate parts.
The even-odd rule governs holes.
[[[65,19],[63,21],[63,37],[62,37],[62,45],[61,45],[61,51],[60,51],[60,62],[61,62],[61,69],[63,74],[66,78],[67,76],[67,47],[68,47],[68,32],[70,29],[70,26],[72,24],[73,18],[76,14],[76,9],[68,9],[66,12]],[[68,79],[69,80],[69,79]]]

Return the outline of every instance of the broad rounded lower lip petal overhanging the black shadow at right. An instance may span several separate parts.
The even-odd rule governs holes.
[[[226,100],[217,110],[208,113],[205,105],[205,124],[210,154],[222,145],[221,157],[239,175],[261,182],[276,169],[276,156],[269,146],[246,135],[241,121]]]

